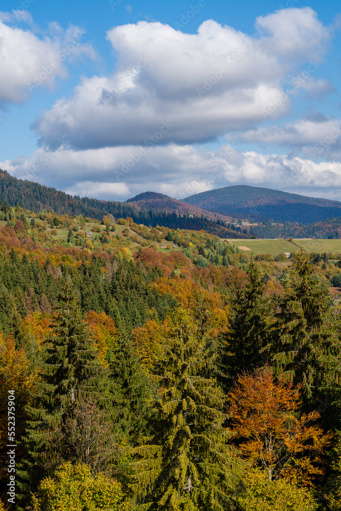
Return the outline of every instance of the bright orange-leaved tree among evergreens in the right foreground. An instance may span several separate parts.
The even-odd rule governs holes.
[[[285,476],[305,485],[324,474],[323,452],[330,436],[315,423],[318,412],[299,417],[299,387],[270,368],[243,374],[229,393],[235,443],[243,455],[268,471],[269,479]]]

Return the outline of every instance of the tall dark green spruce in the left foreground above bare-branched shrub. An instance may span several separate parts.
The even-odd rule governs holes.
[[[80,405],[84,405],[82,410],[86,412],[86,406],[105,408],[110,403],[105,367],[98,362],[69,281],[63,287],[60,301],[62,305],[52,325],[53,335],[44,347],[35,404],[27,410],[30,421],[25,445],[29,459],[19,471],[24,492],[35,491],[39,480],[50,475],[61,462],[75,457],[84,459],[75,452],[75,442],[82,439],[75,439],[71,423],[77,423]],[[106,413],[110,420],[110,410]]]

